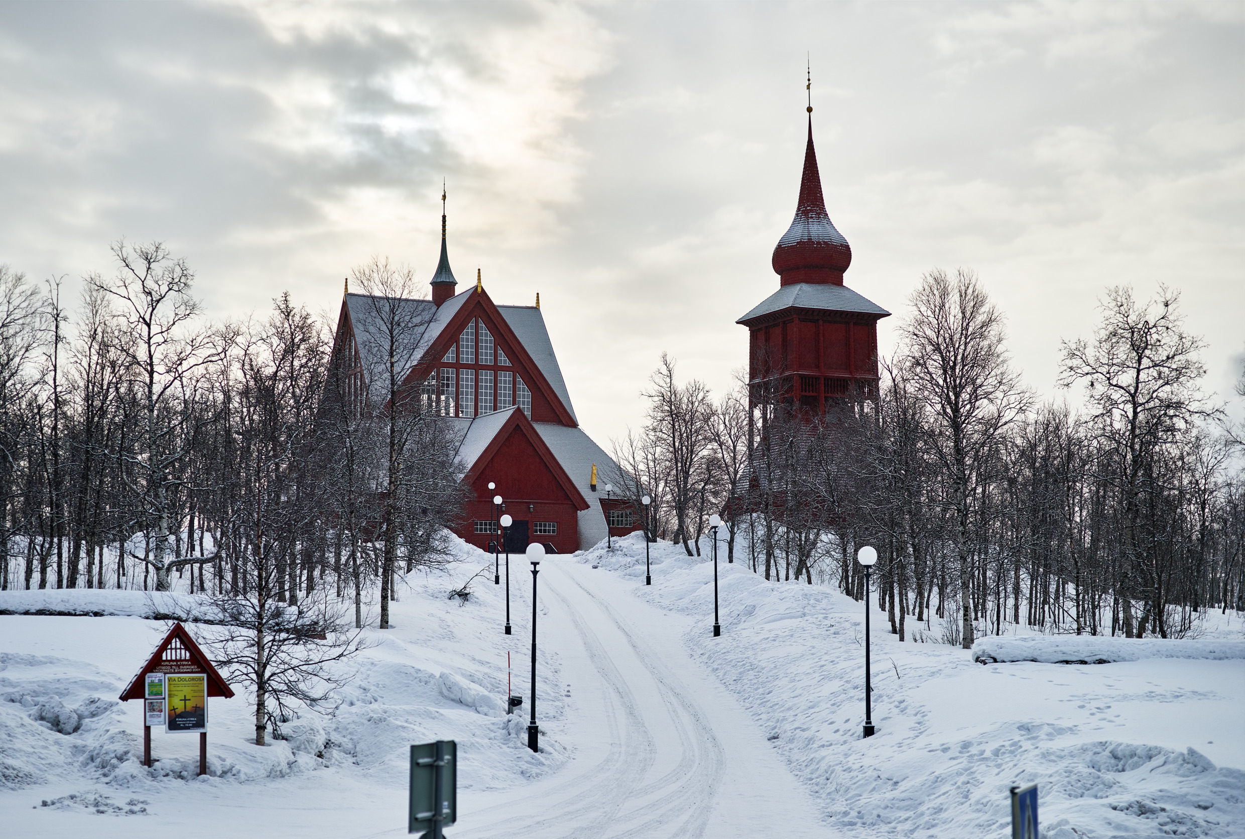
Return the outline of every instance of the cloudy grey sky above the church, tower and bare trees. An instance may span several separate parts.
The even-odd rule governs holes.
[[[0,263],[163,240],[213,319],[336,316],[372,254],[540,293],[581,423],[662,351],[728,387],[778,288],[804,63],[848,285],[975,269],[1040,393],[1113,284],[1183,291],[1206,388],[1245,360],[1245,4],[0,4]],[[1235,408],[1239,415],[1239,406]]]

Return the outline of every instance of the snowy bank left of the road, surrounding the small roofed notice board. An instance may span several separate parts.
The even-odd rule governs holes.
[[[167,632],[167,619],[152,617],[193,617],[199,598],[0,593],[0,834],[52,835],[67,824],[55,819],[68,813],[182,823],[212,812],[235,824],[238,812],[264,812],[288,798],[315,802],[316,824],[334,835],[349,835],[361,808],[380,812],[380,827],[401,824],[410,746],[433,739],[458,742],[462,790],[509,788],[559,768],[568,757],[557,732],[565,700],[552,651],[542,650],[539,661],[548,683],[538,700],[550,726],[540,753],[527,748],[525,719],[505,715],[507,652],[518,673],[530,666],[529,593],[512,589],[514,635],[503,635],[499,586],[477,585],[462,604],[446,599],[493,561],[461,540],[454,553],[448,570],[402,579],[391,604],[393,629],[365,630],[372,646],[340,666],[347,681],[332,715],[303,710],[258,747],[245,686],[234,686],[233,700],[212,700],[203,778],[198,738],[159,729],[156,764],[143,767],[141,703],[117,701]],[[375,627],[376,604],[365,602],[365,620]],[[189,629],[200,644],[212,632],[204,624]],[[291,798],[290,789],[300,792]],[[401,813],[390,814],[391,805]]]

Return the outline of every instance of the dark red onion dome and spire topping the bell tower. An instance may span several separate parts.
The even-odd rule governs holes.
[[[813,147],[812,81],[809,81],[808,144],[804,147],[804,176],[799,182],[796,218],[774,248],[773,268],[781,285],[823,283],[843,285],[843,271],[852,264],[852,246],[843,238],[822,195],[822,176]]]

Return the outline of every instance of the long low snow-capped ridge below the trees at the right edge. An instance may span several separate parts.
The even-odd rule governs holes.
[[[1042,661],[1052,665],[1106,665],[1143,659],[1245,659],[1245,641],[1123,639],[1103,635],[1028,635],[981,639],[972,645],[972,660]]]

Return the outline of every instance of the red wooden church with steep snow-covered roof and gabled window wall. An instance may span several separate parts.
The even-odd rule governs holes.
[[[579,427],[539,295],[534,306],[500,305],[479,278],[456,294],[457,284],[442,214],[432,299],[385,300],[410,315],[418,332],[411,336],[410,376],[423,382],[425,405],[436,405],[438,422],[451,426],[457,442],[459,479],[471,489],[456,533],[488,549],[494,517],[502,515],[493,509],[494,494],[514,520],[507,534],[512,553],[529,541],[570,553],[605,539],[606,527],[613,535],[637,529],[630,505],[606,495],[604,476],[618,468]],[[375,299],[347,293],[337,321],[332,357],[351,360],[347,398],[357,405],[366,400],[370,368],[369,341],[360,335],[367,334],[376,310]],[[603,474],[600,484],[594,466]]]

